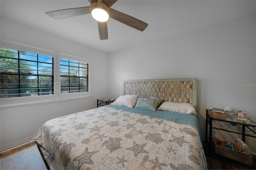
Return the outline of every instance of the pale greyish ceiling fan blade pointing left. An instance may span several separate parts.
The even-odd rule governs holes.
[[[72,16],[79,16],[84,14],[90,14],[90,6],[81,7],[81,8],[70,8],[70,9],[64,9],[64,10],[56,10],[56,11],[50,11],[46,12],[48,16],[54,18],[54,19],[62,19],[62,18],[69,18]]]

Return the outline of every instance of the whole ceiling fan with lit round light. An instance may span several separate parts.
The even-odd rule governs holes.
[[[90,6],[81,8],[70,8],[64,10],[56,10],[45,12],[48,16],[54,19],[69,18],[73,16],[79,16],[84,14],[91,14],[92,17],[98,21],[98,30],[100,34],[100,40],[108,39],[107,21],[109,18],[113,18],[123,24],[126,24],[136,30],[144,31],[148,26],[147,23],[138,20],[132,16],[119,12],[110,8],[117,0],[88,0]]]

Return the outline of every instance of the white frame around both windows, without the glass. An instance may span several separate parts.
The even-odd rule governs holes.
[[[31,105],[35,103],[52,103],[61,102],[66,100],[80,99],[91,97],[90,94],[90,59],[84,57],[77,57],[75,55],[58,53],[55,51],[50,51],[47,49],[41,49],[38,47],[32,47],[30,45],[23,45],[21,43],[10,42],[6,40],[1,40],[1,47],[16,49],[20,51],[32,52],[41,55],[47,55],[54,58],[54,94],[53,95],[40,95],[40,96],[28,96],[28,97],[11,97],[0,99],[0,106],[12,107],[20,105]],[[74,61],[85,62],[89,64],[88,70],[88,81],[89,81],[89,91],[79,92],[79,93],[60,93],[60,58],[70,59]]]

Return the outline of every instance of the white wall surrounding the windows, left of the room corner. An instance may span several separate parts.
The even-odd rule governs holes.
[[[97,99],[107,96],[107,86],[102,85],[102,82],[108,81],[108,77],[102,74],[108,71],[106,53],[40,32],[6,18],[1,18],[1,39],[90,58],[90,90],[92,95],[91,98],[60,103],[1,108],[1,150],[31,140],[32,136],[46,121],[70,113],[93,109],[97,107]]]

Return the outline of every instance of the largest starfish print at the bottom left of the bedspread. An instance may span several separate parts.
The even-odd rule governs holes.
[[[84,153],[74,158],[73,161],[78,161],[78,169],[80,169],[83,164],[92,165],[94,164],[94,162],[92,161],[92,155],[96,154],[97,152],[99,152],[99,150],[95,152],[89,152],[88,147],[86,147]]]

